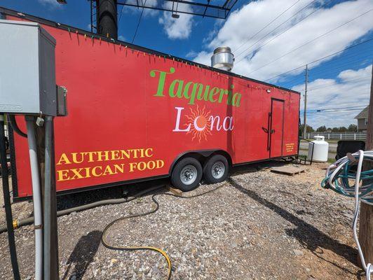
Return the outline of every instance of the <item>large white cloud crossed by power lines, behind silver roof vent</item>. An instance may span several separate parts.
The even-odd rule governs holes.
[[[228,20],[226,20],[224,25],[217,32],[217,36],[207,43],[205,50],[199,52],[194,60],[203,64],[210,64],[212,50],[217,46],[228,45],[232,50],[235,50],[248,40],[243,47],[236,50],[236,65],[233,67],[233,72],[259,80],[266,80],[290,69],[312,62],[320,57],[344,49],[346,46],[351,45],[353,41],[373,29],[372,13],[367,13],[361,18],[344,25],[344,27],[332,31],[330,34],[305,45],[303,48],[295,50],[290,55],[280,58],[276,62],[259,69],[281,55],[294,50],[300,45],[313,40],[321,34],[373,8],[372,0],[356,0],[344,1],[332,7],[320,8],[320,10],[317,10],[317,5],[308,6],[304,10],[301,10],[301,8],[308,3],[310,3],[309,0],[299,1],[299,3],[290,8],[284,15],[280,16],[280,18],[264,29],[264,31],[254,36],[257,31],[276,18],[276,16],[282,13],[285,8],[289,7],[291,3],[287,0],[252,1],[243,6],[243,8],[240,8],[240,10],[231,13]],[[255,44],[259,38],[262,38],[262,36],[269,33],[269,31],[282,22],[285,22],[287,18],[290,18],[299,10],[301,10],[301,12],[294,16],[292,20],[289,20],[280,28],[266,36],[263,41]],[[315,10],[317,10],[315,13],[299,22],[299,20]],[[297,22],[299,22],[299,24],[296,25]],[[292,28],[285,31],[285,29],[289,27]],[[283,31],[285,32],[280,34]],[[280,36],[278,36],[279,34]],[[254,36],[254,38],[251,38],[252,36]],[[262,46],[264,43],[266,43],[266,45]],[[253,45],[252,48],[244,52],[245,55],[249,55],[248,57],[245,57],[245,55],[237,57],[240,52],[249,48],[250,45]],[[238,62],[243,57],[245,58]],[[329,59],[332,59],[332,57],[329,57]],[[314,63],[312,67],[320,63],[321,62]],[[256,69],[259,70],[255,71]],[[291,74],[296,73],[299,72],[294,71]],[[276,80],[271,80],[271,82],[276,82]]]

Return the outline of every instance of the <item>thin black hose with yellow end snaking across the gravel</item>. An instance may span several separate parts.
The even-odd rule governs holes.
[[[207,195],[208,193],[215,192],[216,190],[219,190],[219,188],[222,188],[224,186],[226,186],[226,184],[223,184],[222,186],[219,186],[219,187],[214,188],[212,190],[208,190],[205,193],[200,193],[198,195],[191,195],[189,197],[182,197],[182,196],[179,196],[179,195],[173,195],[171,193],[156,193],[156,194],[154,194],[154,195],[151,196],[151,200],[154,202],[154,204],[156,206],[154,209],[152,209],[150,211],[147,211],[145,213],[133,214],[133,215],[129,215],[129,216],[117,218],[116,220],[114,220],[111,223],[109,223],[109,225],[107,225],[104,228],[104,230],[102,231],[102,237],[101,237],[102,245],[104,245],[106,248],[109,248],[111,250],[117,250],[117,251],[145,250],[145,251],[155,251],[157,253],[161,253],[161,255],[163,255],[163,258],[165,258],[165,260],[167,261],[167,264],[168,264],[168,276],[167,276],[167,280],[170,280],[171,279],[171,274],[172,274],[172,263],[171,263],[170,258],[167,255],[167,253],[165,253],[165,251],[163,251],[161,248],[156,248],[156,247],[151,247],[151,246],[114,246],[114,245],[111,245],[111,244],[109,244],[109,242],[106,239],[107,232],[108,232],[109,228],[111,228],[111,226],[113,226],[118,221],[127,220],[129,218],[137,218],[137,217],[142,217],[142,216],[148,216],[150,214],[156,213],[156,211],[158,211],[158,209],[159,209],[159,202],[156,200],[156,196],[158,196],[158,195],[168,195],[170,197],[177,197],[177,198],[182,198],[182,199],[188,200],[188,199],[191,199],[191,198],[201,197],[202,195]]]

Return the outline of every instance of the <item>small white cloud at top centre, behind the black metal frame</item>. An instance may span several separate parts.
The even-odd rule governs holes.
[[[171,2],[166,2],[165,6],[172,6]],[[191,13],[191,7],[189,5],[179,3],[179,10],[183,10]],[[159,18],[159,24],[163,25],[163,29],[170,39],[186,39],[191,34],[191,27],[193,25],[193,15],[185,13],[177,13],[179,18],[172,18],[170,12],[163,12],[161,18]]]

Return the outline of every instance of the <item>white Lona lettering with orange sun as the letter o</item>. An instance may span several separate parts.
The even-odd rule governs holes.
[[[187,121],[181,125],[183,107],[175,107],[177,111],[175,129],[172,132],[186,132],[186,134],[193,135],[191,140],[207,141],[208,135],[212,135],[212,131],[228,131],[233,130],[233,116],[212,116],[210,111],[205,107],[203,109],[190,109],[190,113],[185,115]],[[184,128],[182,128],[182,127]]]

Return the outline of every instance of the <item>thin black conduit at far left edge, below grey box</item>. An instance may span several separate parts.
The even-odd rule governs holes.
[[[17,251],[15,247],[13,215],[11,207],[11,194],[9,191],[8,162],[6,160],[6,146],[4,133],[4,115],[0,115],[0,156],[1,156],[1,174],[3,181],[3,195],[6,215],[6,228],[8,229],[9,251],[11,253],[11,263],[13,268],[13,277],[20,280],[20,269],[18,268]]]

